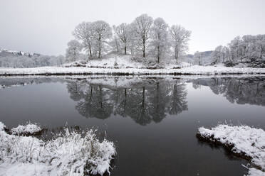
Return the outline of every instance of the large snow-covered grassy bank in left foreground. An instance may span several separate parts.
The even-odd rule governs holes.
[[[3,128],[1,128],[3,127]],[[68,131],[51,141],[9,135],[0,123],[0,175],[87,175],[109,172],[112,142],[100,142],[95,131]]]

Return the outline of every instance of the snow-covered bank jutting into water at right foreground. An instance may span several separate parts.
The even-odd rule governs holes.
[[[262,171],[252,168],[249,175],[265,175],[265,131],[249,126],[218,125],[208,129],[201,127],[197,137],[213,143],[221,143],[233,153],[251,159],[251,163]]]

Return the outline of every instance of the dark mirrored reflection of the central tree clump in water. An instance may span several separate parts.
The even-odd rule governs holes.
[[[71,99],[78,101],[76,109],[86,118],[129,116],[145,126],[152,121],[159,123],[166,114],[187,110],[187,90],[180,79],[142,80],[128,87],[93,84],[83,79],[69,81],[67,88]]]

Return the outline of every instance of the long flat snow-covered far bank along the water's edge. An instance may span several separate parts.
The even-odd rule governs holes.
[[[223,66],[182,67],[180,69],[94,68],[94,67],[36,67],[0,68],[0,75],[232,75],[265,74],[265,68],[235,68]]]

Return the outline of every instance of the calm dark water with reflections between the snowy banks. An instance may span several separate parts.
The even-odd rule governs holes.
[[[111,175],[244,175],[248,162],[198,141],[197,128],[265,129],[265,77],[0,78],[0,85],[7,126],[106,131],[118,150]]]

